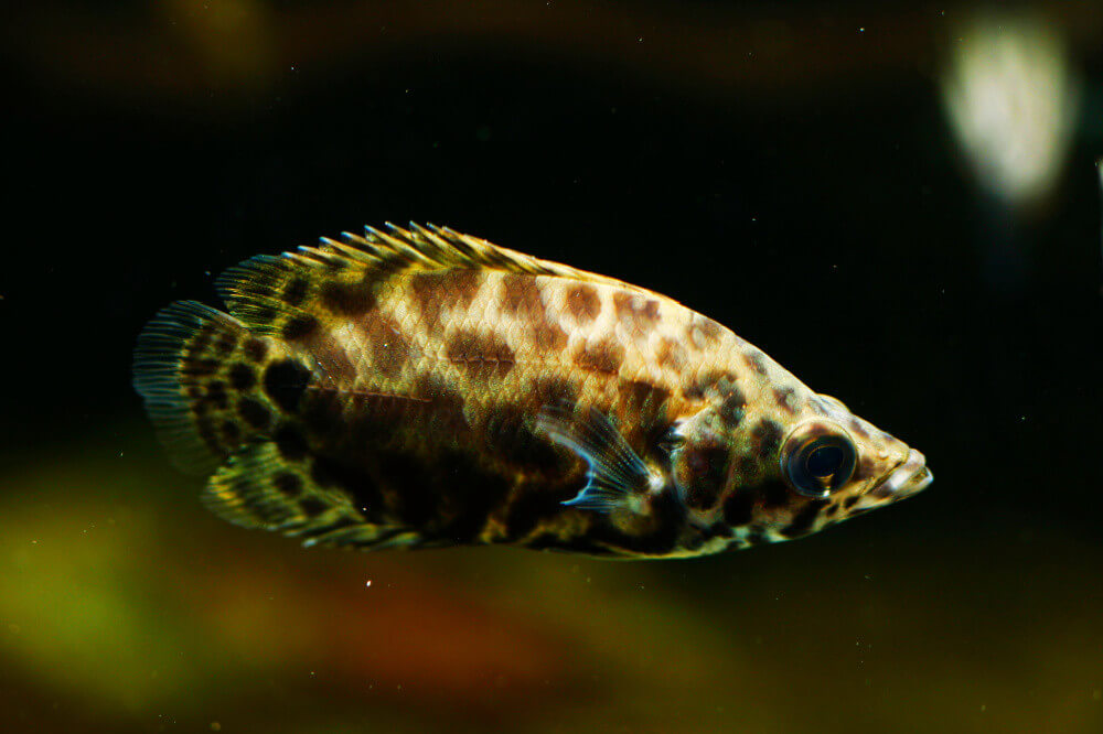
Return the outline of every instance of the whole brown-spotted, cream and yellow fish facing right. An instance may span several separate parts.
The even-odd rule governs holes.
[[[614,559],[782,541],[909,497],[919,451],[645,288],[448,227],[259,255],[138,338],[202,503],[357,549]]]

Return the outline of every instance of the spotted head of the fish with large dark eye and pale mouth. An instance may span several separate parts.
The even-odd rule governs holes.
[[[672,476],[692,522],[745,547],[810,535],[910,497],[922,453],[786,373],[742,380],[677,425]]]

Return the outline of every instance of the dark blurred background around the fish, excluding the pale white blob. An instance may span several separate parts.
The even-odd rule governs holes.
[[[239,0],[15,14],[0,265],[12,721],[1103,731],[1103,11],[1024,15],[1067,44],[1081,90],[1062,173],[1030,204],[986,193],[941,104],[976,12]],[[208,518],[130,388],[142,324],[173,299],[215,303],[214,277],[249,256],[410,219],[717,319],[923,451],[935,483],[808,540],[679,563],[308,553]],[[365,569],[406,583],[381,607],[358,596]],[[283,616],[256,612],[277,583]],[[347,627],[328,635],[334,616]],[[312,630],[314,657],[281,625]],[[356,639],[379,657],[350,654],[351,629],[375,629]]]

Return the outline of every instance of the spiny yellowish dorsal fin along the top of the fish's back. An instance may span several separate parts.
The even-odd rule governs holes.
[[[410,223],[403,229],[366,227],[364,235],[322,237],[317,247],[279,256],[260,255],[226,270],[215,288],[229,312],[260,333],[283,335],[325,311],[356,315],[374,304],[381,283],[396,273],[440,270],[500,270],[554,276],[643,291],[613,278],[542,260],[492,245],[448,227]]]

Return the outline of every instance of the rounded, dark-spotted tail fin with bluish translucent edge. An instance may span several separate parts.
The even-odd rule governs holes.
[[[135,389],[169,454],[190,473],[210,474],[242,445],[270,435],[309,380],[278,339],[194,301],[158,313],[135,348]]]

